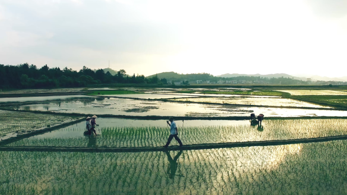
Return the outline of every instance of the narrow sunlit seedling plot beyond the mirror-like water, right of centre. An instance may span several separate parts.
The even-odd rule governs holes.
[[[172,98],[171,101],[189,101],[198,103],[219,103],[219,104],[238,104],[238,105],[260,105],[260,106],[288,106],[288,107],[312,107],[312,108],[329,108],[319,104],[308,103],[299,100],[287,98]]]

